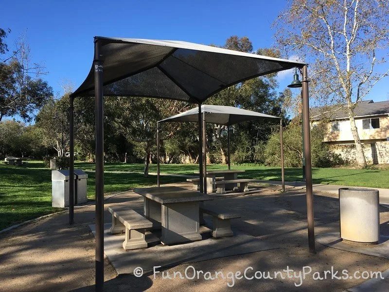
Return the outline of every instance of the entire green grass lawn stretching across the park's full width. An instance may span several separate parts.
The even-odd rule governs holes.
[[[53,213],[51,202],[51,171],[39,161],[31,161],[28,166],[17,167],[0,164],[0,230],[45,214]],[[94,170],[94,164],[76,162],[75,168]],[[246,178],[261,180],[281,180],[281,169],[257,165],[231,165],[232,169],[246,170]],[[198,164],[161,164],[161,173],[193,175],[198,171]],[[226,165],[207,165],[208,170],[227,169]],[[104,175],[106,195],[126,191],[139,186],[156,185],[156,176],[144,178],[143,164],[107,163],[107,171],[122,171]],[[150,165],[150,172],[157,172],[157,165]],[[130,172],[128,175],[125,172]],[[389,170],[367,170],[348,168],[314,168],[314,183],[329,183],[350,186],[389,188]],[[243,174],[241,175],[243,176]],[[286,168],[285,180],[301,181],[301,168]],[[184,178],[161,177],[161,183],[183,182]],[[88,172],[88,200],[94,200],[95,176]]]

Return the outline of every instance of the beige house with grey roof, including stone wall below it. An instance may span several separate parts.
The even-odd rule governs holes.
[[[354,137],[345,105],[310,109],[311,127],[324,123],[323,141],[347,161],[355,161]],[[373,164],[389,163],[389,101],[358,102],[354,119],[366,160]]]

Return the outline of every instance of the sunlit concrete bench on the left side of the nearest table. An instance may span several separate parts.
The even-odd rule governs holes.
[[[125,250],[147,247],[144,232],[145,229],[153,227],[151,221],[132,210],[127,204],[110,206],[108,211],[112,214],[111,234],[125,231],[123,242]]]

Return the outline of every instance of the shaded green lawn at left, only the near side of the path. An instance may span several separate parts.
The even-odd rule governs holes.
[[[17,167],[0,164],[0,230],[11,225],[50,214],[61,208],[52,207],[51,170],[42,162],[29,162]],[[75,165],[80,168],[79,165]],[[164,183],[182,181],[182,178],[165,177]],[[88,173],[88,200],[95,197],[95,176]],[[106,195],[127,191],[139,186],[157,184],[157,177],[144,178],[141,174],[106,173]]]

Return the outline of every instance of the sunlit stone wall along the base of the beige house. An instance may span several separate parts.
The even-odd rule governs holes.
[[[366,161],[372,164],[389,164],[389,141],[363,143]],[[349,162],[355,161],[354,144],[333,144],[330,149]]]

